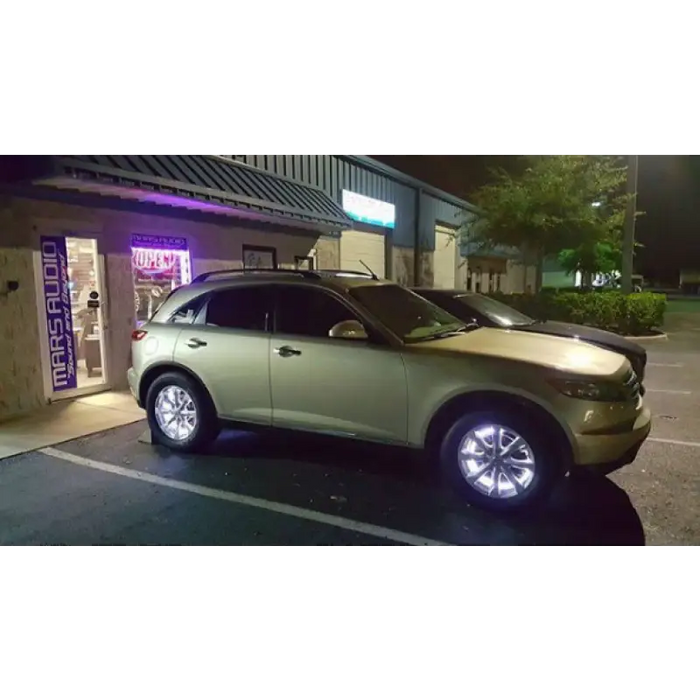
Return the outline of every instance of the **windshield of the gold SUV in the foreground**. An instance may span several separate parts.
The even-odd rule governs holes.
[[[464,321],[395,284],[355,287],[350,295],[405,343],[465,330]]]

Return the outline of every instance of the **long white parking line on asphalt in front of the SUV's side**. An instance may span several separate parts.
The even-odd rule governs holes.
[[[361,523],[356,520],[348,520],[347,518],[341,518],[335,515],[318,513],[313,510],[297,508],[296,506],[289,506],[284,503],[266,501],[262,498],[244,496],[231,491],[221,491],[219,489],[212,489],[206,486],[188,484],[184,481],[176,481],[175,479],[166,479],[161,476],[155,476],[153,474],[146,474],[133,469],[118,467],[114,464],[98,462],[94,459],[88,459],[87,457],[79,457],[78,455],[72,455],[68,452],[55,450],[52,447],[39,450],[39,453],[46,455],[47,457],[60,459],[63,462],[71,462],[72,464],[76,464],[81,467],[87,467],[88,469],[94,469],[96,471],[104,472],[106,474],[113,474],[115,476],[122,476],[126,479],[133,479],[134,481],[141,481],[147,484],[152,484],[153,486],[162,486],[164,488],[173,489],[175,491],[184,491],[185,493],[191,493],[196,496],[203,496],[204,498],[211,498],[217,501],[227,501],[228,503],[234,503],[239,506],[266,510],[270,513],[277,513],[279,515],[288,515],[292,518],[308,520],[310,522],[320,523],[321,525],[329,525],[342,530],[357,532],[361,535],[369,535],[371,537],[389,540],[390,542],[395,542],[397,544],[405,544],[410,547],[419,547],[421,549],[456,549],[454,545],[447,542],[429,540],[406,532],[399,532],[398,530],[390,530],[388,528],[370,525],[368,523]]]

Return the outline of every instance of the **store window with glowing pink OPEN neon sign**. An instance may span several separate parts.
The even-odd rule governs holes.
[[[136,327],[147,323],[170,292],[192,281],[187,241],[170,236],[131,237]]]

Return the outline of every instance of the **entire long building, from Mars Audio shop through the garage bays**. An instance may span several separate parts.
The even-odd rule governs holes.
[[[369,268],[466,288],[466,202],[357,154],[267,155],[274,168],[210,152],[0,157],[0,420],[126,389],[132,332],[203,272]]]

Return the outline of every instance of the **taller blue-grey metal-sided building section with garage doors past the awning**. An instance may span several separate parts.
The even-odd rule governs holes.
[[[366,225],[361,217],[353,217],[360,223],[341,236],[344,267],[356,268],[358,258],[364,255],[372,256],[379,269],[384,250],[386,276],[402,284],[417,281],[444,289],[513,293],[524,292],[535,283],[534,268],[523,268],[518,251],[485,253],[459,243],[460,228],[477,215],[469,202],[388,167],[367,153],[213,153],[315,185],[346,211],[352,212],[344,201],[348,191],[353,205],[358,204],[353,193],[372,198],[375,207],[393,205],[395,219],[388,224]]]

